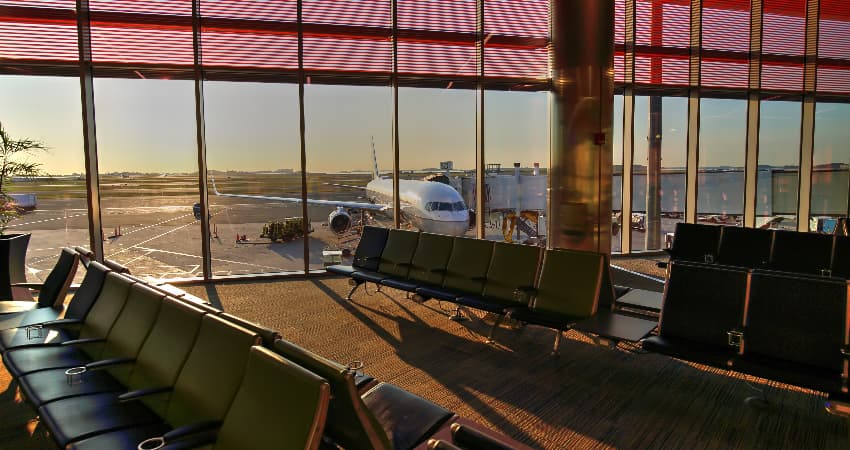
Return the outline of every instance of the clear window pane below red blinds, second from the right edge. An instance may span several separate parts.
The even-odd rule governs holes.
[[[800,101],[764,100],[759,108],[756,226],[797,229]],[[768,223],[769,222],[769,223]]]

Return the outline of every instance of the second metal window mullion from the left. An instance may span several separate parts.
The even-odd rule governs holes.
[[[204,68],[201,53],[201,0],[192,1],[192,51],[194,53],[195,78],[195,131],[198,146],[198,193],[201,211],[201,260],[204,280],[212,278],[212,254],[210,249],[209,195],[207,192],[207,144],[204,122]]]

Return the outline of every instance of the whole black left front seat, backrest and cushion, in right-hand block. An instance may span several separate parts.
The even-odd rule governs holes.
[[[672,262],[659,334],[645,339],[643,348],[729,368],[739,351],[730,346],[729,333],[743,332],[748,277],[742,268]]]

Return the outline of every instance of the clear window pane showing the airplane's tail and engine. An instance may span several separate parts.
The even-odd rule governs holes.
[[[304,95],[307,197],[350,203],[308,209],[314,230],[310,269],[321,269],[326,263],[350,263],[347,255],[357,248],[363,225],[392,227],[391,208],[370,208],[392,206],[392,90],[310,84],[304,87]],[[381,184],[387,195],[377,198],[375,188]]]

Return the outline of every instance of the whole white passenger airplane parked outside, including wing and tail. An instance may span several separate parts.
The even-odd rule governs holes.
[[[393,180],[381,178],[378,174],[378,160],[375,156],[375,143],[372,143],[372,181],[366,186],[337,185],[348,188],[365,189],[366,202],[347,202],[335,200],[307,199],[310,205],[333,206],[336,209],[328,215],[328,226],[336,234],[343,234],[351,228],[351,215],[347,210],[359,209],[388,213],[392,209]],[[222,194],[212,179],[213,192],[220,197],[249,198],[279,202],[300,203],[297,197],[270,197],[264,195]],[[469,209],[460,193],[453,187],[436,181],[399,180],[399,199],[402,220],[427,233],[462,236],[469,229]]]

